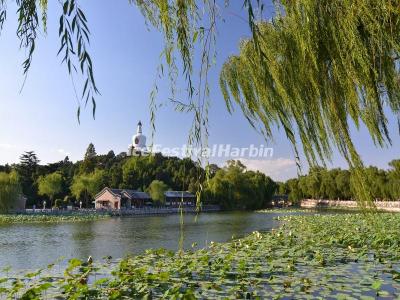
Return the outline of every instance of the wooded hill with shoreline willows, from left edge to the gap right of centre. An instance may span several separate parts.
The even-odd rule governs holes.
[[[162,201],[162,190],[188,190],[200,192],[205,204],[257,209],[268,206],[277,187],[271,178],[247,171],[239,161],[229,161],[224,168],[215,164],[207,168],[189,158],[161,154],[127,157],[124,152],[115,155],[110,151],[97,155],[93,144],[76,163],[66,157],[41,165],[33,151],[25,152],[18,164],[0,166],[0,210],[16,201],[21,191],[27,207],[41,208],[44,201],[47,208],[78,206],[80,202],[92,207],[94,196],[106,186],[148,191],[156,201]]]

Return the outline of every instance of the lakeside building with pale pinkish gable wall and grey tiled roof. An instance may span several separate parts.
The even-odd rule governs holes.
[[[139,208],[151,201],[149,194],[128,189],[104,188],[95,196],[96,209]]]

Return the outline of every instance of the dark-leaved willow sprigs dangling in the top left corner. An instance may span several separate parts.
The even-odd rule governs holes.
[[[74,72],[78,72],[76,64],[79,64],[80,74],[84,78],[81,99],[84,101],[85,106],[88,102],[92,103],[94,117],[96,111],[95,96],[99,94],[99,90],[94,78],[92,59],[87,50],[90,42],[88,22],[76,0],[64,0],[60,1],[60,3],[62,5],[59,25],[61,45],[58,54],[64,54],[62,62],[67,66],[74,89],[75,83],[73,81],[73,74]],[[36,38],[41,30],[45,33],[47,32],[48,0],[17,0],[16,4],[18,7],[17,37],[20,40],[20,47],[27,50],[27,57],[22,63],[26,80],[26,76],[33,61]],[[41,11],[40,13],[39,10]],[[7,0],[0,0],[0,33],[6,18]],[[80,105],[78,107],[77,116],[79,121]]]

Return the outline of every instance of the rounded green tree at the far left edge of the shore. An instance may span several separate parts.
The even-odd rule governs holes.
[[[22,187],[17,172],[0,172],[0,212],[7,212],[22,196]]]

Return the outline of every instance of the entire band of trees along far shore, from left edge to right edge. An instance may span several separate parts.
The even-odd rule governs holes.
[[[372,196],[381,200],[400,198],[400,160],[389,170],[365,169]],[[82,160],[64,160],[41,165],[37,155],[25,152],[20,162],[0,166],[0,210],[12,207],[22,194],[27,207],[93,207],[94,196],[104,187],[147,191],[155,204],[162,205],[163,191],[188,190],[200,195],[204,204],[223,209],[260,209],[270,206],[272,196],[304,198],[354,198],[352,175],[348,170],[314,167],[309,174],[284,183],[274,182],[264,173],[247,170],[240,161],[228,161],[223,168],[210,164],[206,169],[189,158],[152,156],[127,157],[113,151],[97,155],[89,144]]]

